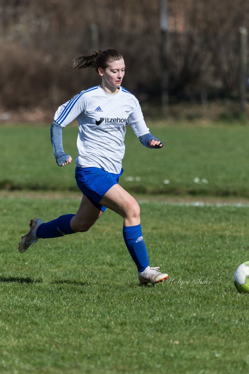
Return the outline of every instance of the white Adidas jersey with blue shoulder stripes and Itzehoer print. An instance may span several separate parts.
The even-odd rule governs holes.
[[[76,165],[119,174],[125,153],[124,137],[130,125],[137,137],[148,134],[138,100],[126,89],[110,95],[100,86],[89,88],[63,104],[55,113],[62,128],[79,122]]]

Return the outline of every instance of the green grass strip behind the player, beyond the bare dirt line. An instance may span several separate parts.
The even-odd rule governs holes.
[[[248,127],[149,127],[164,148],[143,147],[128,128],[120,180],[128,191],[249,197]],[[63,131],[64,149],[73,159],[77,133],[74,126]],[[78,190],[74,162],[63,168],[56,165],[49,126],[1,126],[0,144],[4,154],[0,188]]]

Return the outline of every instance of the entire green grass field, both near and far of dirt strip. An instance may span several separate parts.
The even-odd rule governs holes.
[[[121,178],[140,193],[150,265],[169,274],[148,287],[138,284],[112,211],[87,233],[18,252],[31,218],[74,213],[81,196],[72,193],[74,165],[55,163],[48,127],[0,127],[0,185],[9,190],[0,191],[1,374],[249,370],[249,295],[233,285],[235,269],[249,260],[249,206],[174,203],[180,194],[248,204],[248,128],[150,127],[164,148],[148,150],[128,131]],[[77,128],[63,134],[75,157]]]

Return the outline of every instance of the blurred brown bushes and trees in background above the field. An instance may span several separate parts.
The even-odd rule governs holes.
[[[68,69],[91,47],[121,50],[127,65],[125,88],[141,103],[158,105],[160,12],[160,0],[1,0],[1,112],[38,107],[54,111],[99,84],[93,69]],[[249,2],[168,0],[167,21],[169,102],[237,102],[239,30],[249,28]],[[246,47],[247,36],[244,41]],[[247,61],[246,52],[245,82]]]

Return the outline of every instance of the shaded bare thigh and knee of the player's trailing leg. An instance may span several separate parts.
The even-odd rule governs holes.
[[[84,232],[90,229],[91,226],[99,219],[102,215],[100,211],[93,203],[88,200],[86,196],[82,197],[79,209],[76,215],[71,220],[71,228],[75,232]]]

